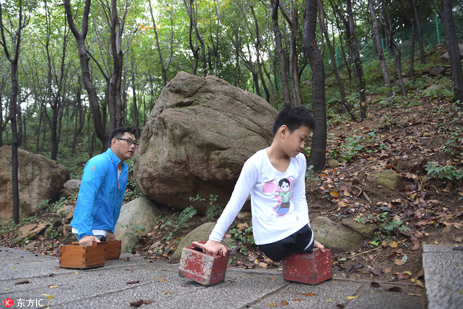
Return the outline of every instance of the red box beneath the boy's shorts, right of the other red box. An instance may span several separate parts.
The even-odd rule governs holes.
[[[331,251],[314,248],[313,253],[293,253],[283,259],[283,279],[318,284],[333,277]]]

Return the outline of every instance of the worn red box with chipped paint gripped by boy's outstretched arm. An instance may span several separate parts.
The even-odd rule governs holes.
[[[184,247],[180,259],[179,276],[191,279],[203,285],[222,282],[227,271],[230,251],[225,256],[210,256],[203,253],[206,242],[194,241],[191,247]]]

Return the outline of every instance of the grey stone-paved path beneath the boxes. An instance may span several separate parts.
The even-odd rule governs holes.
[[[130,303],[140,299],[152,300],[140,306],[147,309],[426,308],[423,289],[401,282],[380,282],[375,288],[370,281],[335,276],[307,285],[283,280],[275,268],[228,268],[224,282],[206,287],[179,277],[179,264],[121,255],[126,257],[129,261],[76,270],[59,268],[56,257],[0,247],[0,308],[8,298],[12,308],[133,308]],[[15,284],[21,280],[28,283]],[[393,286],[401,291],[387,291]]]

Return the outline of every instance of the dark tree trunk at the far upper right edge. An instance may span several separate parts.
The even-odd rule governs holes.
[[[460,50],[453,24],[452,0],[442,0],[442,14],[446,28],[447,49],[449,50],[450,68],[452,69],[453,93],[455,102],[463,107],[463,74],[461,70]]]

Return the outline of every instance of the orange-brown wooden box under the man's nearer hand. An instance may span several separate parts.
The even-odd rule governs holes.
[[[92,246],[80,246],[79,242],[72,245],[61,245],[60,267],[92,268],[104,266],[106,262],[106,242],[94,242]]]

